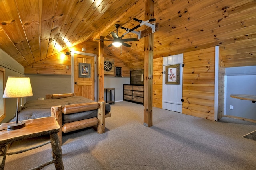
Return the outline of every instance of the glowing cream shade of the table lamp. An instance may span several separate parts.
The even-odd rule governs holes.
[[[33,96],[29,77],[8,77],[3,98],[22,98]]]

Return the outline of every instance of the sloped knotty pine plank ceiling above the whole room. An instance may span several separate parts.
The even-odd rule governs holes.
[[[0,0],[0,48],[22,66],[144,20],[144,0]],[[220,46],[226,67],[256,65],[255,0],[154,0],[154,58]],[[143,30],[140,27],[136,31]],[[126,31],[118,29],[121,36]],[[124,38],[137,37],[128,33]],[[94,40],[95,41],[95,40]],[[111,41],[104,41],[105,48]],[[114,48],[128,68],[143,67],[144,38]],[[108,47],[112,50],[112,47]]]

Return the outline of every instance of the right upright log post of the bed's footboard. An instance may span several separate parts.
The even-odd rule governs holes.
[[[105,132],[105,101],[101,100],[98,103],[100,107],[97,110],[97,118],[99,120],[97,132],[101,134]]]

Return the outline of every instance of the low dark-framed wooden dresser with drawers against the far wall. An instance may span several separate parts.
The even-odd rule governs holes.
[[[143,104],[143,85],[124,84],[123,100]]]

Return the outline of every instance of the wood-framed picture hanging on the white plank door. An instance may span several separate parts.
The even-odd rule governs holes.
[[[180,84],[180,64],[165,66],[165,84]]]

